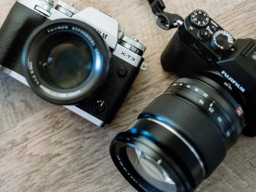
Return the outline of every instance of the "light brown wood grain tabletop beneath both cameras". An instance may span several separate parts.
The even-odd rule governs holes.
[[[0,26],[14,0],[0,0]],[[116,18],[127,36],[147,46],[141,71],[111,125],[87,120],[36,96],[0,74],[0,192],[134,192],[108,152],[112,138],[176,76],[164,72],[160,54],[175,30],[155,24],[146,0],[70,0],[80,10],[94,6]],[[255,0],[165,0],[166,10],[187,16],[204,9],[235,38],[256,38]],[[256,144],[242,136],[198,192],[255,192]]]

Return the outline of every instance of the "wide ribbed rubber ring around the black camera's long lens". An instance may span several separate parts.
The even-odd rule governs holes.
[[[210,117],[200,112],[192,103],[174,95],[161,95],[140,114],[139,118],[146,116],[162,119],[160,121],[165,120],[187,138],[202,155],[207,175],[210,175],[224,159],[226,146],[222,133]],[[154,135],[158,137],[157,132]],[[161,135],[162,133],[159,133],[163,140],[168,138],[162,138]]]

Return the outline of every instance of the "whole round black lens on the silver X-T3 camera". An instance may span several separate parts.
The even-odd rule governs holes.
[[[88,24],[72,19],[45,22],[22,54],[28,84],[54,104],[72,105],[93,96],[110,71],[110,52]]]

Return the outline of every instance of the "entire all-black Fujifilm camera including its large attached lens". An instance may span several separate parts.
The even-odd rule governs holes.
[[[158,26],[169,27],[168,16],[162,13]],[[110,154],[140,192],[192,192],[242,132],[256,136],[256,41],[235,40],[196,10],[178,28],[161,61],[182,78],[112,140]]]

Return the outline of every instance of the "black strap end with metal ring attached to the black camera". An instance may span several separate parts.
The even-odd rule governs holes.
[[[164,12],[165,5],[162,0],[147,0],[150,4],[150,7],[152,9],[152,12],[158,16],[158,19],[156,20],[156,24],[164,29],[164,30],[170,30],[173,28],[180,27],[184,19],[179,16],[178,14],[170,14]]]

